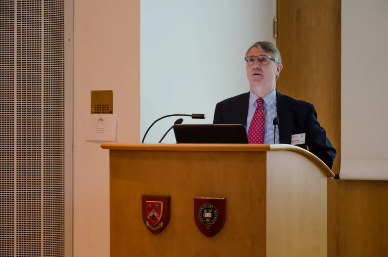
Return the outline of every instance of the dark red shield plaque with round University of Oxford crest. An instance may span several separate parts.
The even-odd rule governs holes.
[[[194,197],[194,220],[205,236],[212,237],[221,231],[226,219],[226,199]]]

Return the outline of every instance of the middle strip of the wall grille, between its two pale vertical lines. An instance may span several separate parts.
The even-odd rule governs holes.
[[[41,256],[42,1],[17,1],[18,257]]]

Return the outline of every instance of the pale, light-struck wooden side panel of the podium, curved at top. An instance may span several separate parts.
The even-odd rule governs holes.
[[[267,257],[328,256],[327,173],[318,168],[296,152],[267,152]]]

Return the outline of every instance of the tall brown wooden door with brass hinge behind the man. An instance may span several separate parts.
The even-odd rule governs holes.
[[[279,92],[314,105],[341,161],[341,0],[278,0]]]

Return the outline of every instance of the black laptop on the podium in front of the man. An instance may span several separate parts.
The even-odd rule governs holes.
[[[246,127],[241,124],[177,124],[173,129],[176,143],[249,143]]]

